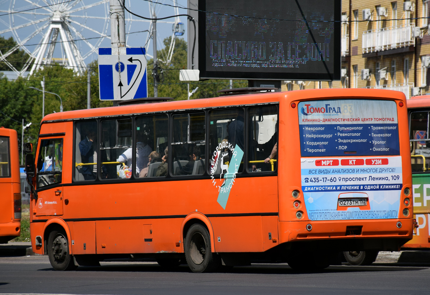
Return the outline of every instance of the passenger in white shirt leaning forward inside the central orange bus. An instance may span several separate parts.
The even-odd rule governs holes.
[[[148,138],[143,132],[137,132],[136,139],[136,175],[139,175],[141,169],[144,169],[149,160],[148,156],[151,154],[152,148],[147,144]],[[117,162],[125,163],[128,167],[132,166],[132,147],[123,152],[118,157]]]

